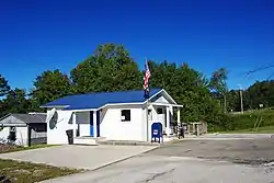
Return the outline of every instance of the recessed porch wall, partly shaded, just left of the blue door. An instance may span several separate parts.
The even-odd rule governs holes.
[[[80,136],[90,136],[90,112],[76,113]]]

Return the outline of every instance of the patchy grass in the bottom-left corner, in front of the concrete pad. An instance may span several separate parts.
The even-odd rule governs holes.
[[[0,175],[4,175],[9,178],[11,182],[16,183],[33,183],[78,173],[81,170],[0,159]]]

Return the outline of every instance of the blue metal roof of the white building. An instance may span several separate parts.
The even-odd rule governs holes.
[[[161,91],[161,89],[151,89],[150,96],[159,91]],[[132,90],[68,95],[42,105],[42,107],[67,105],[68,107],[66,107],[66,110],[85,110],[99,108],[105,104],[140,102],[145,102],[144,90]]]

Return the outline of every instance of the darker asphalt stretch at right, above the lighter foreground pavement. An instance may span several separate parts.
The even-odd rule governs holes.
[[[274,161],[274,139],[182,140],[150,151],[148,155],[261,164]]]

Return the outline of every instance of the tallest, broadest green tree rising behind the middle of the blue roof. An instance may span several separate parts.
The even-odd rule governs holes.
[[[122,45],[100,45],[94,55],[80,62],[70,75],[79,93],[141,88],[138,65]]]

